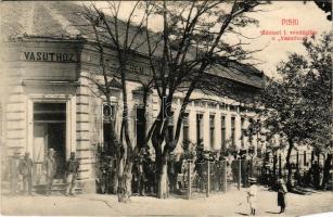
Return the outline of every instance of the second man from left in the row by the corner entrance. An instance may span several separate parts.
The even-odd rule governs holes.
[[[29,195],[33,194],[33,167],[34,163],[30,158],[30,153],[26,152],[24,158],[20,162],[20,174],[23,177],[23,191],[28,191]]]

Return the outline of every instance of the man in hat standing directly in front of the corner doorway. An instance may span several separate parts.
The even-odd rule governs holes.
[[[46,157],[44,161],[44,174],[46,174],[46,179],[47,179],[47,195],[51,194],[51,188],[53,183],[53,178],[56,173],[56,163],[54,159],[54,150],[49,149],[48,156]]]

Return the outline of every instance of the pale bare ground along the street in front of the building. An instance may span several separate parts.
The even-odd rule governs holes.
[[[289,194],[286,214],[283,216],[333,212],[332,204],[332,192],[317,192],[311,195]],[[118,203],[116,195],[105,194],[81,194],[72,197],[62,195],[2,196],[1,206],[2,215],[246,216],[248,214],[244,189],[193,200],[133,196],[128,204]],[[277,193],[260,188],[258,216],[280,216],[277,215],[278,212]]]

